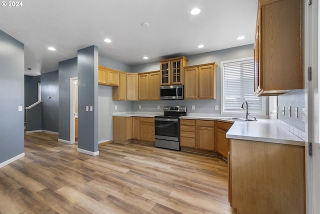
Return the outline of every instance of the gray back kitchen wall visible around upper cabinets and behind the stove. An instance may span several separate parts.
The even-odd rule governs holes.
[[[166,105],[185,105],[188,113],[220,113],[220,61],[249,56],[253,56],[253,44],[186,56],[188,59],[188,65],[210,62],[216,62],[218,64],[216,67],[216,99],[132,101],[131,110],[161,112],[163,111],[163,106]],[[131,66],[132,72],[146,72],[158,69],[159,62],[157,61],[153,63]],[[141,109],[139,109],[139,105],[141,105]],[[157,105],[160,105],[160,109],[157,109]],[[195,106],[194,110],[191,110],[192,105]],[[215,105],[219,106],[219,110],[214,110]]]

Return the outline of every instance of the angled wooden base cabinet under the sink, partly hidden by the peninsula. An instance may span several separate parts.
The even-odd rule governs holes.
[[[216,142],[217,150],[224,157],[227,157],[229,152],[229,138],[225,134],[232,126],[232,123],[216,121]]]

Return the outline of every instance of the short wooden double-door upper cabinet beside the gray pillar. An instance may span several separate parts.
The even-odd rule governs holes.
[[[119,72],[120,71],[118,70],[99,65],[98,66],[98,84],[118,86]]]

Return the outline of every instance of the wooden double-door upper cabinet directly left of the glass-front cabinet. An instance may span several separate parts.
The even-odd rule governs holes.
[[[138,100],[160,99],[159,71],[143,72],[138,74]]]

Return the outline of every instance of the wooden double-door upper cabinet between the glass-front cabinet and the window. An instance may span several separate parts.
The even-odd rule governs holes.
[[[184,99],[215,99],[215,62],[184,67]]]

